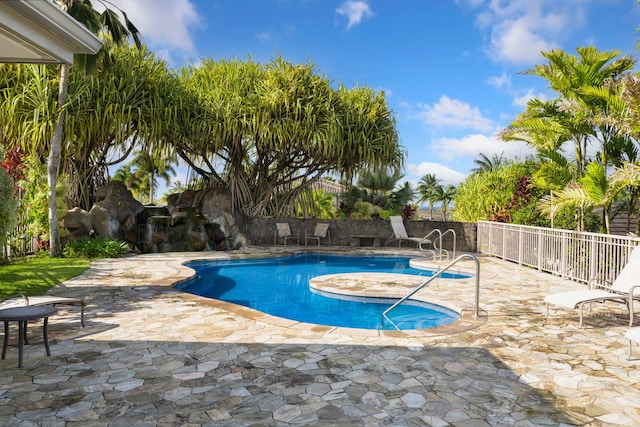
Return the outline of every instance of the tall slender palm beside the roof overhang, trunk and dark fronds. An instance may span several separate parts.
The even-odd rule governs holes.
[[[98,0],[101,1],[101,0]],[[100,14],[96,11],[89,0],[58,0],[60,5],[81,24],[85,25],[93,33],[98,34],[100,31],[106,32],[114,43],[124,43],[128,37],[133,37],[136,45],[141,45],[138,29],[129,21],[127,15],[120,10],[125,20],[122,25],[117,13],[111,10],[105,2],[101,3],[105,6],[105,11]],[[111,3],[109,3],[111,5]],[[96,55],[78,55],[77,64],[86,70],[91,70],[92,64],[96,62]],[[65,104],[67,102],[67,91],[69,87],[70,65],[62,64],[60,68],[60,86],[58,91],[58,117],[51,139],[51,147],[49,149],[49,159],[47,161],[47,183],[51,197],[49,199],[49,233],[51,239],[50,254],[52,257],[58,257],[62,254],[60,246],[60,231],[58,227],[58,207],[56,199],[56,185],[58,181],[58,167],[60,164],[60,155],[62,152],[62,135],[66,117]]]

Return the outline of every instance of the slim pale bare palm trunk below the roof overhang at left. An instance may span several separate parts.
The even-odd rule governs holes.
[[[47,183],[49,184],[49,254],[52,257],[62,255],[60,247],[60,230],[58,227],[58,200],[56,197],[56,187],[58,183],[58,165],[60,164],[60,153],[62,151],[62,132],[64,130],[64,120],[66,115],[65,103],[67,102],[67,89],[69,86],[69,64],[62,64],[60,68],[60,88],[58,91],[58,121],[53,132],[51,148],[49,149],[49,159],[47,161]]]

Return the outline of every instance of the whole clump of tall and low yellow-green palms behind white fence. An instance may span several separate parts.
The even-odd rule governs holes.
[[[637,79],[630,75],[635,60],[617,50],[576,51],[542,52],[547,63],[527,73],[545,78],[558,98],[529,101],[501,137],[525,141],[544,159],[532,180],[548,190],[539,205],[543,214],[553,218],[571,207],[577,212],[578,230],[584,231],[586,215],[599,207],[604,231],[609,232],[613,203],[624,188],[609,183],[608,173],[637,160],[634,118],[639,98]],[[563,155],[565,148],[574,153],[572,163]],[[590,152],[595,154],[590,157]]]

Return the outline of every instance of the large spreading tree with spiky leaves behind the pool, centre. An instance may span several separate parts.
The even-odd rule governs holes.
[[[402,164],[384,94],[336,91],[313,64],[207,59],[181,77],[203,110],[167,139],[248,216],[295,215],[324,175]]]

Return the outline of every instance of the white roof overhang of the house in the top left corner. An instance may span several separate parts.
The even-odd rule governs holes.
[[[49,0],[0,0],[0,62],[73,63],[102,41]]]

